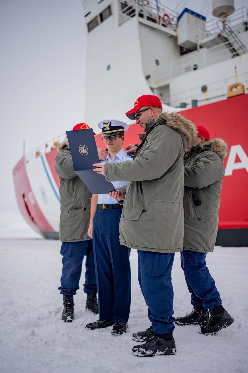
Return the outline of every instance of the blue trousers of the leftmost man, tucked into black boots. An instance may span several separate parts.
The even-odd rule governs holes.
[[[86,255],[85,263],[85,293],[96,293],[96,271],[94,264],[94,253],[92,239],[77,242],[62,242],[60,254],[62,258],[62,276],[60,294],[66,293],[75,295],[79,289],[79,280],[82,271],[83,258]]]

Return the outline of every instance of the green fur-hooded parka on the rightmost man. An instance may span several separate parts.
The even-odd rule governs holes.
[[[209,253],[215,247],[227,150],[225,141],[215,138],[184,155],[184,250]]]

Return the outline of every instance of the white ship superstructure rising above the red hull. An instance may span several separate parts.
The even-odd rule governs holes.
[[[215,1],[215,8],[226,2],[233,3]],[[248,81],[247,8],[207,22],[193,10],[179,15],[154,0],[85,0],[83,7],[85,110],[93,128],[110,108],[126,120],[142,94],[158,95],[165,110],[180,110],[224,100],[229,85]]]

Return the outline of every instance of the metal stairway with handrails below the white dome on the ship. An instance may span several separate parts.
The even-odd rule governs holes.
[[[220,23],[222,25],[220,26]],[[226,47],[232,53],[233,57],[240,56],[240,52],[242,51],[244,54],[247,53],[247,49],[245,48],[244,44],[239,40],[235,32],[228,26],[224,21],[219,19],[216,22],[217,27],[220,30],[218,34],[218,39],[220,39],[223,43],[226,43]],[[225,35],[223,35],[225,33]],[[232,38],[232,40],[230,40]],[[237,44],[237,46],[233,44]]]

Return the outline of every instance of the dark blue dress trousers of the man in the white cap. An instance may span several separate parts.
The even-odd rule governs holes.
[[[122,209],[97,209],[93,220],[93,247],[99,319],[128,322],[131,304],[130,249],[120,245]]]

